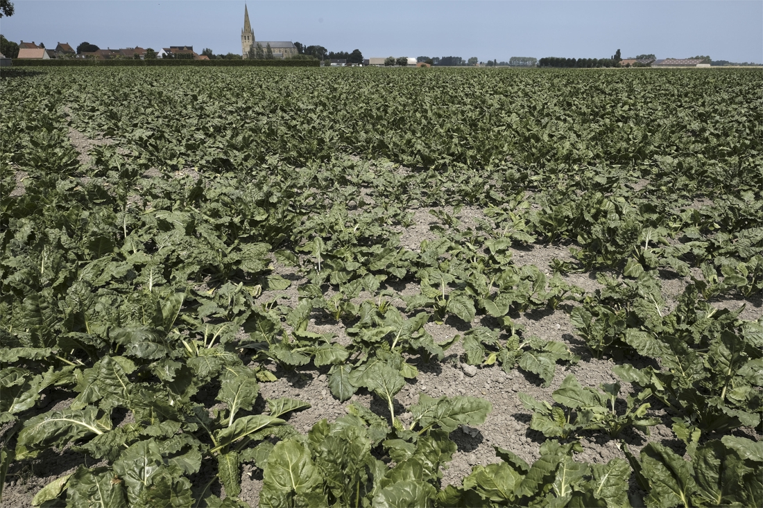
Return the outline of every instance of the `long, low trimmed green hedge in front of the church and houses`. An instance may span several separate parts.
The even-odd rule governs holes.
[[[67,66],[198,66],[198,67],[317,67],[318,60],[186,60],[186,59],[151,59],[151,60],[92,60],[92,59],[13,59],[17,67],[67,67]]]

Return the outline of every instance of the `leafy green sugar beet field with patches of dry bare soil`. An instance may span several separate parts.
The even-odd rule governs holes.
[[[4,70],[0,504],[763,505],[761,90]]]

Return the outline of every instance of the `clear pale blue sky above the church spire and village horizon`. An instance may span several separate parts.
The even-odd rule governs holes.
[[[14,0],[14,42],[193,46],[241,53],[243,0]],[[257,40],[371,56],[658,58],[763,63],[763,0],[270,0],[246,2]]]

